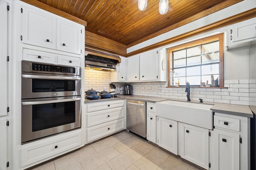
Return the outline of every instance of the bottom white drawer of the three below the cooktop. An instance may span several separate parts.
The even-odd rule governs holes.
[[[100,139],[101,137],[105,137],[110,135],[111,133],[120,131],[124,129],[124,119],[114,120],[108,123],[104,123],[101,125],[96,125],[94,127],[90,127],[87,129],[87,140],[88,142],[93,141],[95,139]]]

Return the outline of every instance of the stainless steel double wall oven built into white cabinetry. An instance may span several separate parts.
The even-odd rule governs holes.
[[[81,127],[81,67],[22,61],[22,141]]]

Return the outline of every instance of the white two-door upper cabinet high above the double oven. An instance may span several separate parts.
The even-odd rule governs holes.
[[[22,43],[79,55],[82,53],[84,26],[27,6],[22,6],[21,13]]]

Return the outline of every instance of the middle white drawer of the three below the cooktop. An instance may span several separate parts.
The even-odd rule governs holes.
[[[94,111],[87,114],[87,127],[124,117],[124,107]]]

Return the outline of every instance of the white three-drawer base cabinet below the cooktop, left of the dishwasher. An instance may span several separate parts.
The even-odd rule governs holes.
[[[86,143],[126,128],[124,100],[86,104]]]

